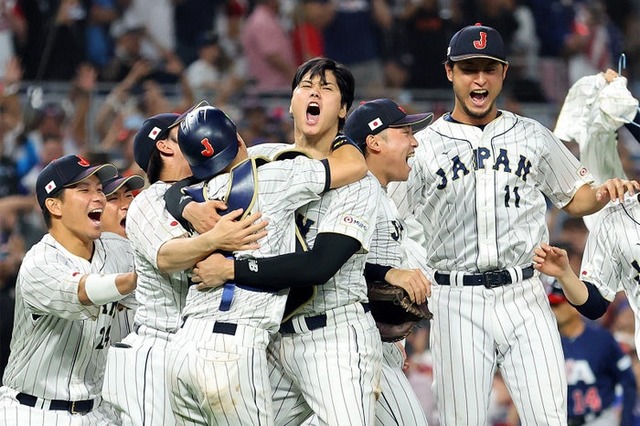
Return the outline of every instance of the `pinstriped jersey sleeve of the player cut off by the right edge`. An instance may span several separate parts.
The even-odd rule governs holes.
[[[609,302],[622,290],[622,268],[615,215],[602,215],[591,230],[582,258],[580,279],[592,283]]]

